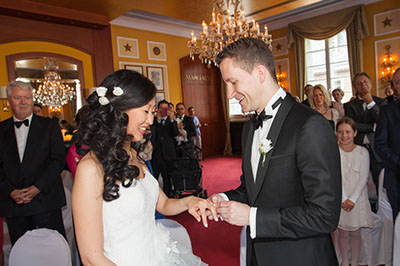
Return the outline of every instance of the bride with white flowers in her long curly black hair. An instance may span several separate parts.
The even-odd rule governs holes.
[[[79,128],[79,162],[72,192],[76,238],[85,265],[201,265],[188,248],[155,222],[155,210],[186,210],[207,227],[205,199],[169,199],[138,155],[153,123],[156,88],[130,70],[109,75],[87,102],[90,112]],[[83,149],[82,147],[89,147]]]

